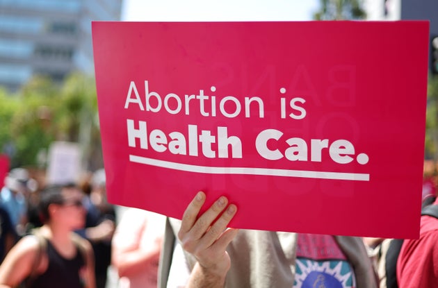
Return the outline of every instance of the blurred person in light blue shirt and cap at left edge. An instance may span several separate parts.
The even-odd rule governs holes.
[[[26,232],[27,199],[37,188],[38,183],[29,177],[29,171],[24,168],[12,169],[5,178],[0,193],[1,205],[8,212],[19,236]]]

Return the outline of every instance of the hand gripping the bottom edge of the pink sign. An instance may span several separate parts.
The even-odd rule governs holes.
[[[205,200],[206,195],[198,192],[184,212],[178,232],[184,250],[197,260],[188,287],[223,287],[231,266],[226,249],[238,232],[237,229],[227,228],[227,225],[236,214],[237,207],[228,205],[228,199],[221,196],[199,215]]]

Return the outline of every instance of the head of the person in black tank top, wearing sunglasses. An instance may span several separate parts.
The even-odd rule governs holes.
[[[40,193],[42,223],[58,221],[66,227],[79,229],[85,224],[85,216],[83,192],[76,185],[53,185]]]

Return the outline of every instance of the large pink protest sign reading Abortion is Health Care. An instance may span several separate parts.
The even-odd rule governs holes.
[[[108,199],[418,237],[428,22],[93,22]]]

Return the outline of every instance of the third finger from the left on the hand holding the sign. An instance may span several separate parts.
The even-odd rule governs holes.
[[[206,233],[202,237],[202,246],[209,247],[213,245],[213,243],[218,242],[218,239],[222,241],[222,237],[225,237],[225,243],[222,244],[226,246],[228,245],[229,241],[232,239],[228,239],[227,234],[224,232],[227,229],[227,226],[229,222],[233,219],[234,215],[236,215],[237,207],[234,204],[231,204],[227,207],[227,210],[225,210],[220,217],[215,217],[216,221],[211,225],[209,230],[206,231]]]

